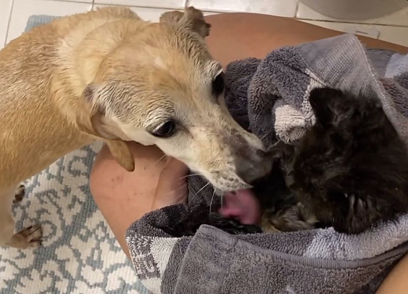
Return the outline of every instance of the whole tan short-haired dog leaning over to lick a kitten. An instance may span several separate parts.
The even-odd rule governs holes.
[[[226,109],[209,29],[192,7],[159,23],[105,8],[42,25],[0,51],[0,245],[39,244],[39,226],[13,234],[17,184],[97,139],[129,171],[123,141],[156,144],[223,191],[269,172],[261,142]]]

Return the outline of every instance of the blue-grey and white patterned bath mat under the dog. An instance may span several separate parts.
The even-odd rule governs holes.
[[[32,16],[27,30],[55,17]],[[1,294],[148,293],[89,192],[101,144],[74,151],[29,179],[13,205],[17,229],[41,224],[42,247],[0,248]]]

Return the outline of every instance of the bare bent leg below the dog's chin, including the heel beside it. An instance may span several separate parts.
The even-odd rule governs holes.
[[[164,156],[155,146],[129,143],[135,171],[127,172],[104,146],[96,156],[90,177],[93,198],[123,251],[127,228],[146,212],[187,199],[187,167]]]

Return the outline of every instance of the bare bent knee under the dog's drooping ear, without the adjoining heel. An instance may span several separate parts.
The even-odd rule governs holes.
[[[135,220],[151,209],[164,165],[164,158],[159,161],[163,156],[159,148],[130,143],[130,149],[135,157],[134,172],[119,166],[104,146],[95,159],[90,177],[92,196],[128,256],[124,234]],[[152,160],[157,164],[151,164]]]

